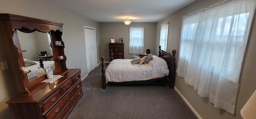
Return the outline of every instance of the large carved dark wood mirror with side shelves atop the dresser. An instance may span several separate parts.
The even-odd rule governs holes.
[[[47,78],[46,75],[30,79],[28,74],[21,69],[22,66],[25,67],[24,59],[37,60],[41,51],[46,51],[48,55],[52,56],[51,61],[54,62],[53,65],[55,67],[54,74],[61,75],[68,72],[66,56],[64,55],[64,43],[62,41],[62,23],[13,14],[0,14],[0,25],[4,28],[0,29],[0,35],[2,35],[0,38],[4,41],[8,62],[10,62],[8,65],[13,73],[14,86],[18,94],[30,95],[48,84],[41,83]],[[28,35],[30,33],[36,33],[36,35],[33,35],[34,41],[23,42],[22,40],[32,39],[24,38],[25,34]],[[41,49],[40,45],[43,45],[43,43],[38,43],[44,40],[48,45],[48,49]],[[60,41],[62,45],[55,45],[55,41]],[[28,42],[36,42],[40,45],[35,46],[31,45],[31,43],[26,46]],[[32,49],[36,53],[30,53]],[[58,59],[58,56],[63,56],[63,58]]]

